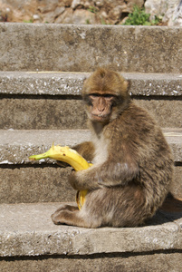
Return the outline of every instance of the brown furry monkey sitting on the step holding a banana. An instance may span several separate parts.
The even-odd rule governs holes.
[[[72,171],[73,189],[87,189],[81,210],[62,204],[54,224],[83,228],[139,227],[168,195],[174,160],[150,114],[132,101],[129,82],[100,67],[82,87],[91,141],[73,147],[93,165]]]

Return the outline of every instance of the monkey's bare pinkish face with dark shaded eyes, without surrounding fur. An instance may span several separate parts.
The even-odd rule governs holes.
[[[91,121],[107,122],[112,119],[113,107],[117,104],[117,97],[113,94],[93,92],[84,101]]]

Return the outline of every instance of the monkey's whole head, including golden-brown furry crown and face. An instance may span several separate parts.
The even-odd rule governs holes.
[[[129,83],[119,74],[99,68],[85,80],[82,97],[91,121],[107,123],[117,118],[129,102]]]

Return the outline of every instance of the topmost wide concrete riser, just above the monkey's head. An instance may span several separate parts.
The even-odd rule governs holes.
[[[1,71],[182,72],[180,27],[1,23],[0,35]]]

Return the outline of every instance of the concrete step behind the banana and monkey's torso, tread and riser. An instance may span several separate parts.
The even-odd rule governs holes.
[[[182,129],[164,129],[164,133],[176,163],[171,192],[182,198]],[[73,201],[70,167],[60,168],[53,160],[33,162],[28,157],[48,151],[53,141],[72,147],[89,139],[87,130],[0,131],[0,203]]]

